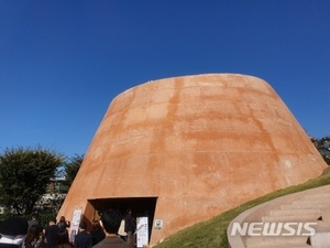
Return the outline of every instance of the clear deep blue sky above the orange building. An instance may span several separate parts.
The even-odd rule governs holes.
[[[330,1],[0,1],[0,149],[86,153],[113,97],[148,80],[266,80],[330,134]]]

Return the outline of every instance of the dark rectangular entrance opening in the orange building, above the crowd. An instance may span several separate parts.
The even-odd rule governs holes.
[[[152,235],[152,226],[154,222],[157,197],[128,197],[128,198],[96,198],[88,200],[95,209],[94,219],[106,209],[113,208],[120,211],[123,215],[130,208],[134,218],[146,216],[148,222],[148,240]]]

